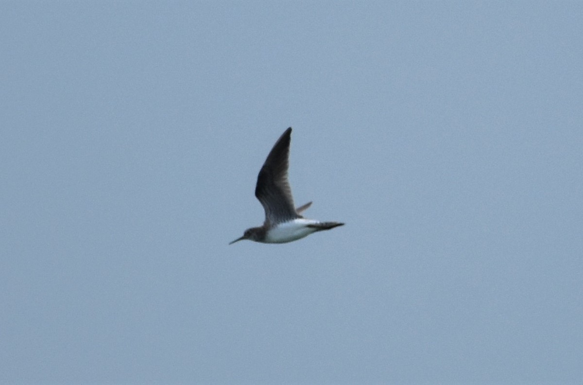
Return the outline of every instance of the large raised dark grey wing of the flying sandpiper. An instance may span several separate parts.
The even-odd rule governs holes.
[[[265,159],[255,185],[255,197],[265,209],[266,223],[280,223],[301,218],[296,212],[287,180],[291,127],[283,132]]]

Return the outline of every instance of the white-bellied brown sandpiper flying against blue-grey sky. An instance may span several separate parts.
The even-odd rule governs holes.
[[[243,239],[262,243],[286,243],[317,231],[344,225],[340,222],[320,222],[301,216],[300,213],[310,207],[312,202],[295,208],[287,180],[290,141],[291,127],[275,142],[257,177],[255,197],[265,209],[263,226],[245,230],[242,237],[229,244]]]

